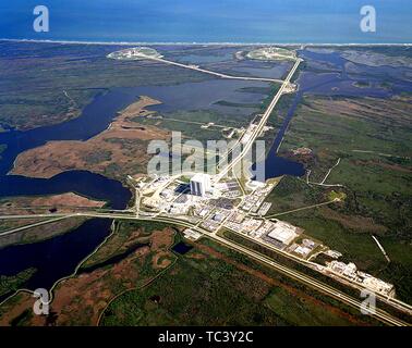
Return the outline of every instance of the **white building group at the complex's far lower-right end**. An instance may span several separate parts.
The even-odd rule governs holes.
[[[327,270],[352,282],[356,282],[372,291],[379,293],[385,296],[392,296],[395,293],[392,284],[376,278],[368,273],[358,271],[356,265],[352,262],[344,263],[334,260],[327,262]]]

